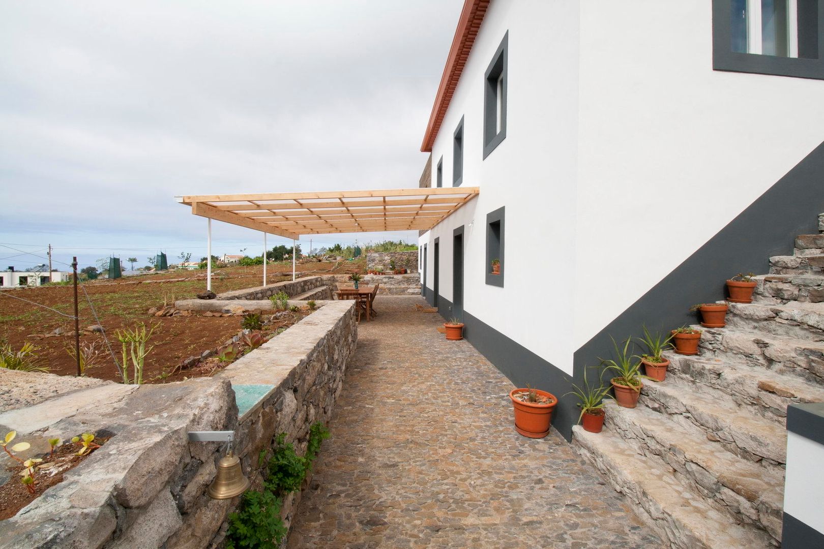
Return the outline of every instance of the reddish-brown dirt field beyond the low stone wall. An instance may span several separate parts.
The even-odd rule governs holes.
[[[299,276],[344,274],[365,272],[365,260],[340,263],[302,263],[296,270]],[[179,381],[183,376],[208,375],[194,369],[190,372],[170,373],[188,357],[215,349],[241,330],[241,317],[207,317],[201,315],[154,317],[147,313],[152,307],[172,305],[175,300],[192,298],[206,288],[205,270],[171,271],[157,274],[123,277],[114,281],[87,281],[79,290],[79,317],[81,342],[98,342],[105,350],[101,365],[87,370],[87,375],[100,379],[119,381],[113,361],[107,360],[108,350],[100,333],[83,331],[97,322],[89,301],[94,305],[97,318],[109,338],[115,356],[120,359],[120,343],[115,331],[134,328],[139,323],[147,327],[157,325],[148,345],[153,346],[147,356],[143,379],[149,383]],[[216,293],[260,286],[263,266],[229,267],[213,272],[212,289]],[[291,280],[292,263],[270,264],[267,268],[269,283]],[[85,290],[85,291],[84,291]],[[15,299],[21,298],[21,299]],[[26,301],[23,301],[26,300]],[[33,303],[39,305],[34,305]],[[37,354],[49,372],[58,375],[76,375],[77,366],[67,348],[73,347],[74,321],[58,312],[44,309],[44,305],[59,313],[73,314],[72,286],[43,286],[12,291],[0,291],[0,339],[5,339],[17,350],[25,342],[37,347]],[[272,328],[285,328],[302,318],[302,314],[287,315]],[[54,335],[58,328],[64,335]]]

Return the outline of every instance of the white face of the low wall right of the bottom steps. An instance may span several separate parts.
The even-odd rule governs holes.
[[[784,477],[784,511],[824,533],[824,445],[787,432],[787,473]]]

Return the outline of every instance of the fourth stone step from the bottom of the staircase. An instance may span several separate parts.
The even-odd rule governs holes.
[[[751,366],[733,356],[684,356],[665,353],[667,375],[709,385],[727,393],[741,406],[752,407],[767,419],[784,425],[787,406],[794,402],[824,402],[824,386],[794,375]],[[668,378],[667,378],[668,379]]]

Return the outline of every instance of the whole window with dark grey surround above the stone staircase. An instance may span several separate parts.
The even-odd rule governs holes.
[[[824,79],[824,0],[713,0],[713,67]]]

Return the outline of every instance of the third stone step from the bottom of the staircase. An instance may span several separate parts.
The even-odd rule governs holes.
[[[681,426],[697,426],[709,440],[718,441],[728,451],[766,468],[783,465],[787,454],[787,431],[733,402],[717,388],[667,377],[662,383],[646,381],[639,402],[670,416]]]

